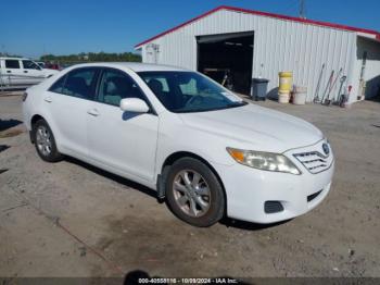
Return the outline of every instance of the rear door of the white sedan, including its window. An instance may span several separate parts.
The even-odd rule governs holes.
[[[61,77],[43,98],[61,150],[87,157],[87,112],[94,99],[97,67],[80,67]]]

